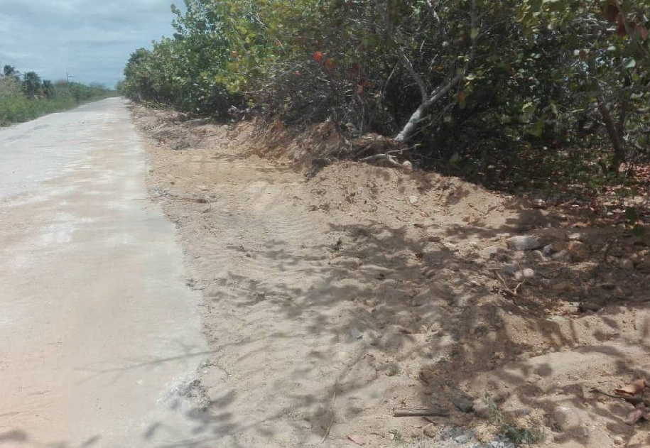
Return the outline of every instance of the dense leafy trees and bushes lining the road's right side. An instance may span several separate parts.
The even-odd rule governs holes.
[[[650,0],[185,0],[123,92],[226,118],[330,120],[515,186],[650,155]]]

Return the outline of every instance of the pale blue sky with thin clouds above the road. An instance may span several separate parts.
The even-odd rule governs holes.
[[[171,35],[183,0],[0,0],[0,67],[114,87],[133,50]]]

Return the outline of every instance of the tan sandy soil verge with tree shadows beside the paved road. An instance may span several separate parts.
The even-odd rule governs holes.
[[[487,441],[486,395],[543,446],[650,444],[647,422],[624,423],[631,405],[590,392],[650,368],[647,241],[568,241],[572,219],[433,173],[338,162],[305,177],[293,150],[309,138],[282,129],[134,114],[204,297],[215,355],[197,433],[212,446],[387,447],[430,425]],[[509,249],[520,234],[566,257]],[[611,258],[621,248],[634,266]],[[450,403],[458,390],[477,412]],[[432,403],[449,417],[392,416]]]

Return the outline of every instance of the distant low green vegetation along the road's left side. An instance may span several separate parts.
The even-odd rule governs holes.
[[[70,109],[82,102],[109,97],[100,84],[41,80],[35,72],[21,75],[11,65],[0,74],[0,126]]]

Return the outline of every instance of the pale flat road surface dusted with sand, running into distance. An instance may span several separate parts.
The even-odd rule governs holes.
[[[190,446],[200,296],[145,172],[122,99],[0,129],[0,447]]]

